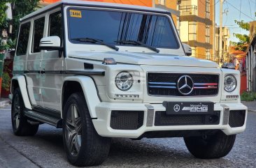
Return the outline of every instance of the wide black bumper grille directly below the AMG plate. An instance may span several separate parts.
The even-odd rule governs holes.
[[[220,111],[214,114],[173,114],[166,112],[155,113],[155,126],[166,125],[218,125],[220,123]]]

